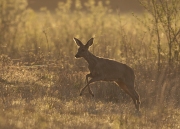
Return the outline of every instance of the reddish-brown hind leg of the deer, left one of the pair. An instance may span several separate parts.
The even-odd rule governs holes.
[[[137,96],[134,91],[128,88],[122,81],[116,81],[116,83],[132,98],[136,109],[139,111],[139,105],[137,103]]]

